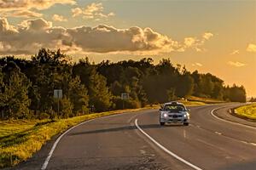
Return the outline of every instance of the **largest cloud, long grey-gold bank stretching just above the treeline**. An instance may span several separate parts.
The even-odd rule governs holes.
[[[148,27],[64,28],[52,26],[52,22],[44,19],[23,20],[18,26],[11,26],[6,18],[0,18],[0,54],[35,54],[39,48],[61,48],[64,52],[79,54],[165,54],[202,48],[204,38],[195,37],[195,40],[177,42]]]

